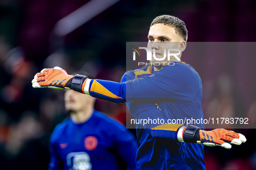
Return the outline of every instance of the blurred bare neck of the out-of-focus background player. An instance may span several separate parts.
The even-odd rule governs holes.
[[[86,108],[84,108],[84,110],[71,112],[70,113],[71,119],[74,123],[84,123],[88,119],[90,119],[93,111],[94,111],[93,106],[87,106]]]

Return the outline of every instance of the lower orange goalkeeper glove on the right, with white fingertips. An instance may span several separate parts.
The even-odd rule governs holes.
[[[180,132],[178,132],[179,142],[198,143],[206,146],[221,146],[226,149],[231,148],[230,144],[240,145],[242,142],[246,142],[244,135],[226,129],[205,131],[197,126],[189,125],[180,130]]]

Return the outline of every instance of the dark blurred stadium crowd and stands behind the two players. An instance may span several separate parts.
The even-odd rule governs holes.
[[[69,74],[83,70],[97,79],[120,82],[126,72],[126,42],[147,41],[149,25],[160,14],[175,15],[186,23],[188,43],[256,40],[256,2],[251,0],[121,0],[67,35],[62,48],[52,47],[49,37],[55,23],[85,3],[0,1],[1,170],[48,167],[49,136],[68,114],[63,90],[32,88],[34,75],[43,68],[60,66]],[[255,44],[249,44],[248,53],[243,53],[248,44],[240,45],[238,54],[181,58],[201,76],[204,118],[249,118],[250,129],[226,127],[245,135],[245,144],[230,150],[204,147],[207,170],[256,169]],[[125,104],[97,100],[95,109],[126,123]]]

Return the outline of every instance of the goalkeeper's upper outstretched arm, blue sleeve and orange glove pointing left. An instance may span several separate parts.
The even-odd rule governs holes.
[[[170,68],[172,67],[165,66],[158,73],[151,76],[119,83],[87,79],[86,76],[81,75],[71,76],[65,70],[55,67],[54,69],[43,69],[40,73],[37,73],[32,80],[32,86],[34,88],[73,89],[115,103],[145,99],[188,101],[194,98],[199,88],[198,76],[186,70],[170,74],[173,71]]]

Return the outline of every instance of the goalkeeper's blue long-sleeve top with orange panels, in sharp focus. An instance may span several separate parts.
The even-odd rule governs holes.
[[[135,119],[203,118],[202,83],[198,73],[186,63],[173,63],[175,65],[163,66],[160,71],[149,66],[126,72],[121,83],[91,80],[87,91],[96,98],[126,102]],[[203,124],[191,124],[204,128]],[[180,126],[168,123],[137,125],[137,169],[204,170],[203,145],[178,142]]]

